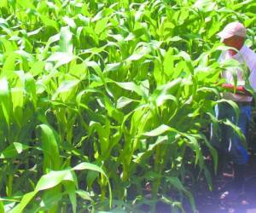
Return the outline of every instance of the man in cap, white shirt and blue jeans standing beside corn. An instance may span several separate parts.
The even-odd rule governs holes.
[[[222,72],[222,78],[225,79],[223,87],[225,90],[230,89],[230,92],[224,92],[223,98],[226,100],[235,101],[240,109],[239,118],[236,120],[236,113],[230,104],[226,102],[219,103],[215,107],[216,117],[218,119],[229,119],[230,122],[236,124],[243,135],[247,138],[249,123],[251,119],[251,103],[253,96],[247,92],[245,85],[248,84],[253,90],[256,90],[256,54],[252,49],[249,49],[245,45],[246,28],[240,22],[232,22],[224,27],[223,31],[218,33],[218,37],[228,47],[228,49],[222,52],[219,58],[219,62],[225,60],[237,60],[244,70],[241,69],[226,69]],[[241,66],[241,67],[242,67]],[[248,73],[248,78],[245,74]],[[234,93],[234,78],[233,73],[236,72],[236,94]],[[238,123],[236,123],[238,121]],[[234,163],[234,181],[230,192],[227,194],[233,194],[233,198],[239,198],[239,194],[243,192],[243,185],[245,180],[245,165],[248,161],[247,149],[242,143],[240,137],[236,132],[228,125],[219,124],[217,129],[211,128],[211,141],[212,145],[217,148],[218,154],[221,156],[229,156]],[[218,164],[224,164],[220,162]],[[235,194],[235,197],[234,197]],[[229,195],[230,198],[232,195]]]

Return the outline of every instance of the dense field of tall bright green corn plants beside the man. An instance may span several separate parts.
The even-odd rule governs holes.
[[[217,170],[207,131],[230,66],[216,33],[239,20],[255,49],[255,9],[0,0],[0,212],[195,211],[185,178],[212,189],[203,147]]]

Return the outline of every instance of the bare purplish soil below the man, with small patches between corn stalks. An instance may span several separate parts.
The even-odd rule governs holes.
[[[232,187],[233,166],[229,162],[224,166],[222,174],[212,177],[212,191],[209,190],[204,178],[194,184],[190,190],[195,198],[198,213],[256,213],[256,149],[251,150],[250,159],[246,167],[246,181],[244,192],[236,199],[221,199],[221,195]],[[190,185],[190,184],[189,184]],[[236,193],[235,193],[236,194]],[[189,202],[183,203],[186,213],[192,213]],[[157,213],[172,213],[170,206],[159,202],[156,207]]]

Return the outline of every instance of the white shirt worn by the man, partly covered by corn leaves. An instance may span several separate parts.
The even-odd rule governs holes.
[[[249,83],[251,87],[256,91],[256,54],[253,52],[252,49],[249,49],[246,45],[243,45],[242,48],[236,55],[230,56],[228,51],[224,51],[219,58],[219,62],[224,60],[235,59],[239,61],[241,64],[246,64],[248,67],[249,73]],[[245,80],[243,78],[241,70],[236,70],[237,76],[237,86],[244,86]],[[234,79],[232,72],[227,69],[222,73],[222,77],[226,79],[227,83],[234,84]],[[250,102],[253,100],[252,96],[248,95],[237,95],[230,92],[224,92],[223,97],[225,99],[229,99],[236,102]]]

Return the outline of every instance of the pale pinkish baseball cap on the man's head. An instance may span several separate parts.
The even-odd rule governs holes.
[[[247,30],[245,26],[243,26],[240,22],[231,22],[221,32],[218,32],[218,37],[222,39],[232,37],[232,36],[239,36],[239,37],[246,37]]]

